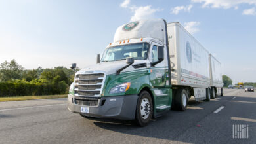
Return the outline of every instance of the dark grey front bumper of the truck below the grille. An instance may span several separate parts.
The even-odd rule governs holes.
[[[77,105],[73,95],[68,94],[68,110],[89,117],[134,120],[138,95],[102,97],[98,106]],[[103,102],[104,101],[104,102]],[[81,107],[89,107],[89,113],[81,113]]]

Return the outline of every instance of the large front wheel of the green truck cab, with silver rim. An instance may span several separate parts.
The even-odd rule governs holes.
[[[137,101],[135,122],[138,126],[146,126],[153,115],[153,103],[150,94],[142,91]]]

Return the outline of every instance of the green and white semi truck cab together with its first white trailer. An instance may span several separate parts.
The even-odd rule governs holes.
[[[215,88],[209,52],[179,22],[123,24],[97,61],[76,71],[70,86],[68,109],[83,117],[146,126],[170,109],[185,111],[191,97],[210,101]]]

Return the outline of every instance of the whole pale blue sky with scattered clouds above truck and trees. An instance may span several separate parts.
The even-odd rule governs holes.
[[[145,18],[180,22],[236,82],[256,82],[256,0],[0,0],[0,63],[86,67],[117,27]]]

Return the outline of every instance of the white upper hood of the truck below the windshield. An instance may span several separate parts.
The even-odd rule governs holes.
[[[133,65],[139,64],[139,63],[146,63],[146,60],[135,60]],[[127,65],[125,60],[120,60],[120,61],[113,61],[113,62],[102,62],[102,63],[97,63],[95,65],[89,65],[79,71],[77,73],[87,73],[87,71],[104,71],[106,75],[114,74],[116,73],[117,69],[120,69],[121,67],[124,67]],[[145,68],[145,67],[144,67]],[[132,65],[124,69],[122,72],[125,71],[133,71],[135,68],[133,68]]]

